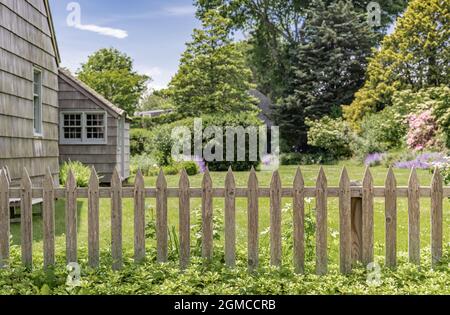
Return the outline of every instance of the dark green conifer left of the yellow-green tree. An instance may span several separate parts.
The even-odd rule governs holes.
[[[307,146],[306,119],[338,117],[341,105],[352,102],[376,41],[366,17],[350,1],[327,5],[316,0],[307,14],[296,50],[295,91],[274,107],[283,139],[296,149]]]

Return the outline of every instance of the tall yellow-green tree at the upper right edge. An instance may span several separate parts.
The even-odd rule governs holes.
[[[450,4],[412,0],[393,34],[371,58],[367,81],[344,115],[355,129],[370,112],[392,105],[396,91],[450,84]]]

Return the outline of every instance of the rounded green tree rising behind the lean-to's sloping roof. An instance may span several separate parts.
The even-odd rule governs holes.
[[[133,70],[133,60],[117,49],[100,49],[88,57],[77,73],[78,78],[125,110],[129,116],[147,89],[150,79]]]

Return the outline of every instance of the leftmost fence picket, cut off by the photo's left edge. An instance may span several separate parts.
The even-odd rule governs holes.
[[[0,268],[9,260],[9,180],[6,170],[0,170]]]

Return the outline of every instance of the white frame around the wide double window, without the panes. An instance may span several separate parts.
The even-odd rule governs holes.
[[[102,114],[103,115],[103,126],[105,128],[103,139],[88,139],[87,138],[87,119],[86,116],[89,114]],[[81,115],[81,139],[66,139],[64,138],[64,115]],[[108,114],[105,111],[62,111],[59,118],[59,134],[60,144],[68,145],[105,145],[108,143]]]

